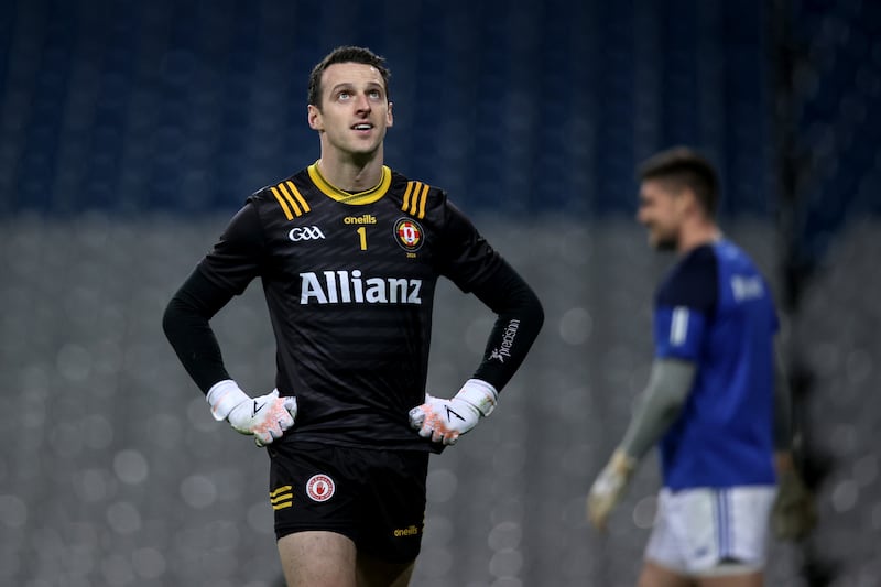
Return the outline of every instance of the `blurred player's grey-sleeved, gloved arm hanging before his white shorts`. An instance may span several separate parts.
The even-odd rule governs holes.
[[[688,398],[697,367],[681,359],[655,359],[649,383],[623,439],[612,453],[587,498],[587,514],[598,529],[620,501],[637,465],[676,421]]]

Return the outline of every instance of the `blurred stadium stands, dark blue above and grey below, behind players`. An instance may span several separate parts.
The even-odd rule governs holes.
[[[689,143],[784,314],[820,524],[769,585],[881,581],[881,4],[871,0],[0,3],[0,584],[281,585],[267,459],[215,423],[160,327],[252,191],[317,157],[312,65],[389,58],[388,161],[446,187],[547,319],[491,421],[435,458],[414,585],[633,585],[646,463],[607,535],[584,496],[651,360],[670,262],[633,167]],[[216,319],[269,389],[259,285]],[[439,289],[429,389],[490,325]]]

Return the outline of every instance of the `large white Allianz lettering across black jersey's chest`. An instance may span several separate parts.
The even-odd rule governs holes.
[[[422,304],[422,280],[365,278],[360,269],[300,274],[300,303]]]

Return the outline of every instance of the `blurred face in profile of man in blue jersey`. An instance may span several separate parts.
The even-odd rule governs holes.
[[[659,250],[676,250],[686,204],[684,191],[662,180],[644,180],[639,197],[637,220],[646,228],[649,244]]]

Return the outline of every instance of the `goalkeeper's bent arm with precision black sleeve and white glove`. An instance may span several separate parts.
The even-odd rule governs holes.
[[[492,412],[499,392],[526,358],[544,323],[535,292],[504,260],[498,260],[474,294],[497,315],[482,361],[453,399],[426,394],[425,403],[410,411],[410,423],[420,436],[446,445],[455,444]]]

